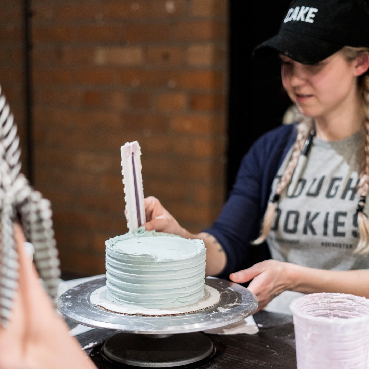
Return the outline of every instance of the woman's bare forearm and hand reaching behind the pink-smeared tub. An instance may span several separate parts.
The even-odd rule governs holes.
[[[369,298],[369,270],[323,270],[266,260],[230,275],[236,283],[251,280],[248,289],[264,308],[285,290],[302,293],[336,292]]]

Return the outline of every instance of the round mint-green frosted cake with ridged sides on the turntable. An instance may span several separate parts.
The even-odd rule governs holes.
[[[106,241],[106,286],[113,300],[151,309],[196,303],[204,296],[206,248],[142,227]]]

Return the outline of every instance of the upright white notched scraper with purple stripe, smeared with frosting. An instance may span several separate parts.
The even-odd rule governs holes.
[[[137,230],[146,223],[144,187],[142,185],[141,148],[137,141],[127,142],[120,148],[124,184],[125,210],[128,229]]]

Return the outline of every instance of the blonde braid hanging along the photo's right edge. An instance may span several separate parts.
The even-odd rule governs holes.
[[[355,254],[365,254],[369,251],[369,220],[363,213],[365,199],[369,190],[369,75],[363,77],[363,100],[365,111],[365,142],[364,158],[358,184],[358,193],[360,195],[359,205],[356,211],[359,226],[359,243],[354,251]]]

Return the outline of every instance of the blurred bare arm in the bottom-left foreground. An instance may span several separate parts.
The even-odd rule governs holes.
[[[12,315],[0,327],[1,369],[96,369],[68,326],[59,317],[39,282],[24,249],[20,225],[14,226],[18,246],[19,278]]]

